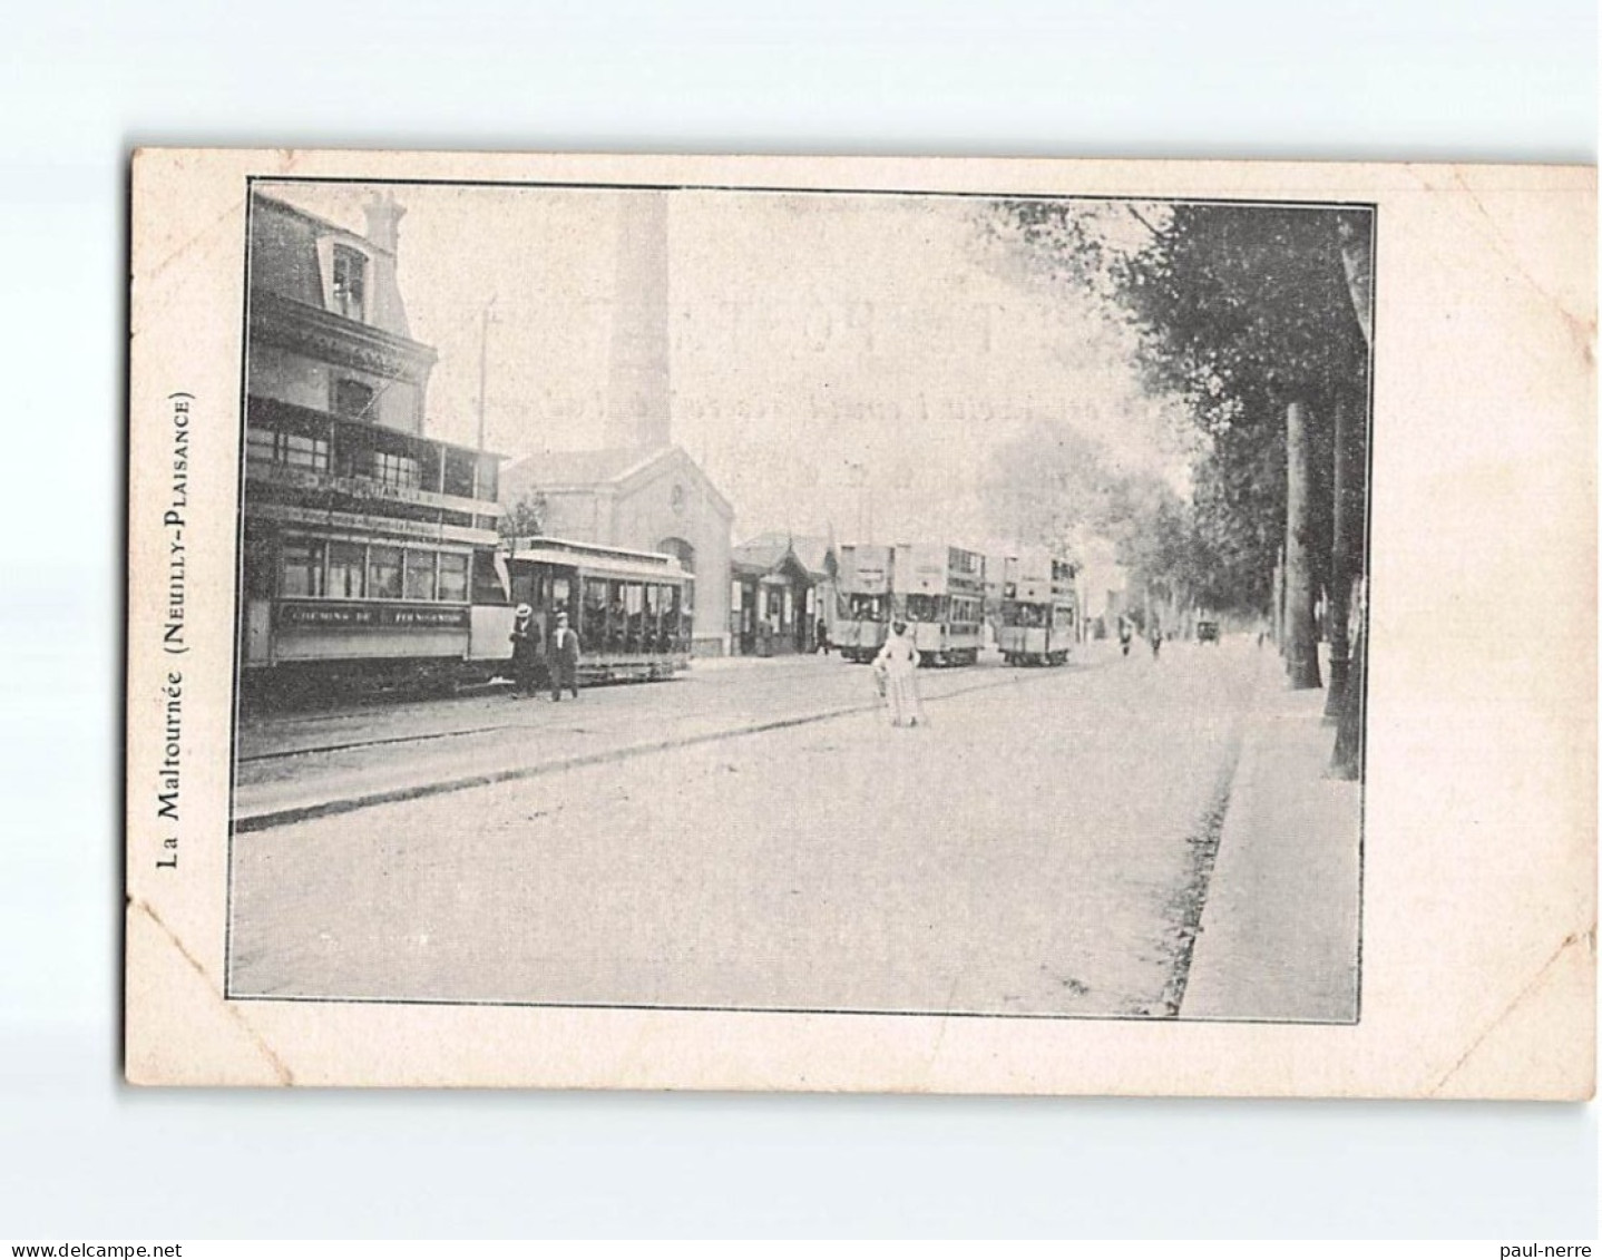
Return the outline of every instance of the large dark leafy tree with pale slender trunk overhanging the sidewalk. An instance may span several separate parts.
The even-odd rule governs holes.
[[[1136,243],[1115,243],[1113,215],[1123,215],[1126,240],[1129,224],[1137,227]],[[1149,387],[1181,395],[1206,435],[1195,509],[1205,551],[1226,560],[1210,581],[1214,594],[1250,591],[1262,610],[1274,559],[1296,540],[1286,548],[1286,591],[1307,608],[1290,620],[1291,642],[1282,647],[1291,684],[1318,685],[1312,602],[1336,584],[1333,421],[1338,407],[1367,399],[1357,296],[1367,271],[1352,215],[1057,200],[1008,202],[1001,218],[1049,259],[1049,275],[1125,312],[1141,335]],[[1296,467],[1286,442],[1293,421],[1302,439]],[[1275,476],[1264,476],[1270,467]]]

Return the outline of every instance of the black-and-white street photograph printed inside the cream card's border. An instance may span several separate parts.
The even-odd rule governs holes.
[[[1355,1021],[1373,219],[252,183],[227,994]]]

